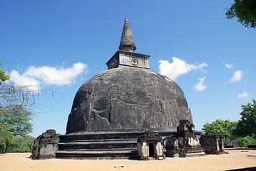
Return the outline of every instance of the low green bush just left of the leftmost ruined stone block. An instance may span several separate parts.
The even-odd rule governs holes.
[[[11,144],[10,152],[31,152],[34,147],[35,138],[29,135],[15,136],[14,142]]]

